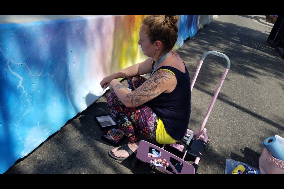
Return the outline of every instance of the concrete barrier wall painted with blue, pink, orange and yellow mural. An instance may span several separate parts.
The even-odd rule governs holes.
[[[175,49],[218,17],[179,16]],[[144,17],[0,24],[1,174],[98,100],[102,78],[146,58],[138,45]]]

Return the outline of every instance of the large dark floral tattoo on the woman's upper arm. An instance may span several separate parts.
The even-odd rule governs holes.
[[[166,81],[172,79],[172,76],[174,74],[171,72],[160,70],[150,76],[140,87],[126,94],[126,98],[131,99],[131,104],[140,106],[161,93],[164,89],[161,88],[159,91],[156,91],[156,88],[161,87]]]

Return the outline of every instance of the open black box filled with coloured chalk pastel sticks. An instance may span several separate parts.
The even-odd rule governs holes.
[[[116,147],[124,138],[125,134],[118,126],[113,126],[101,135],[101,139],[112,144],[114,147]]]

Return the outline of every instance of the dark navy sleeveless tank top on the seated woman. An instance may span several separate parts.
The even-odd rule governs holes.
[[[177,78],[177,86],[172,92],[163,92],[147,104],[162,119],[167,133],[173,139],[181,140],[188,129],[191,113],[189,73],[186,66],[185,73],[171,66],[162,66],[160,69],[172,71]]]

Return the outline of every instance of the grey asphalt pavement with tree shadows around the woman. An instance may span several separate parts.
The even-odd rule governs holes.
[[[284,137],[284,59],[267,43],[272,27],[264,15],[220,15],[177,50],[191,79],[208,51],[224,53],[231,63],[205,125],[211,142],[202,154],[198,174],[225,174],[227,159],[259,169],[262,142],[276,134]],[[204,120],[225,63],[221,57],[208,56],[202,64],[192,90],[189,128],[193,131]],[[101,139],[104,131],[94,116],[109,113],[109,93],[4,174],[166,174],[148,162],[140,161],[133,168],[133,159],[108,156],[113,146]],[[120,144],[125,143],[126,139]]]

